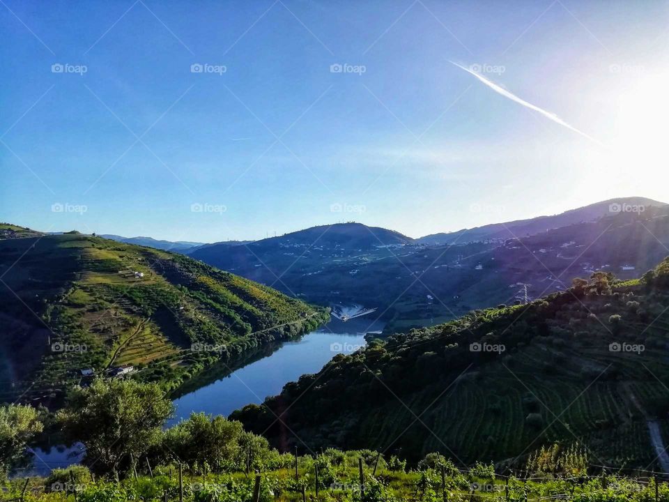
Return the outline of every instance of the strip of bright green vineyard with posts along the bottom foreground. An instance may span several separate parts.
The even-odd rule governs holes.
[[[624,476],[614,469],[598,475],[530,478],[495,473],[475,464],[460,470],[441,457],[406,471],[396,458],[376,452],[328,450],[316,457],[282,455],[273,469],[218,473],[204,465],[137,464],[125,480],[96,480],[84,467],[56,469],[48,478],[5,482],[6,502],[666,502],[669,484],[647,471]],[[599,468],[598,468],[599,469]],[[591,469],[594,470],[594,467]]]

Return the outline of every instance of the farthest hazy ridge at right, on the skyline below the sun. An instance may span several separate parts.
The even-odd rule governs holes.
[[[612,215],[617,212],[633,212],[636,211],[637,208],[645,209],[666,205],[667,204],[664,202],[647,199],[645,197],[609,199],[582,208],[571,209],[570,211],[565,211],[564,213],[553,216],[539,216],[528,220],[493,223],[491,225],[484,225],[483,227],[475,227],[472,229],[431,234],[417,239],[417,242],[422,244],[463,244],[475,241],[487,241],[490,239],[500,240],[525,237],[539,234],[550,229],[567,227],[577,223],[592,222],[598,218]]]

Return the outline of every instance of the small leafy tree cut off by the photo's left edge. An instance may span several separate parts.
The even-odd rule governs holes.
[[[42,430],[37,410],[32,406],[0,406],[0,478],[22,457],[26,443]]]

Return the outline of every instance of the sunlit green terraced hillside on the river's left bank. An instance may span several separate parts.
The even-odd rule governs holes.
[[[180,254],[77,233],[0,240],[0,400],[132,365],[174,388],[328,313]]]

